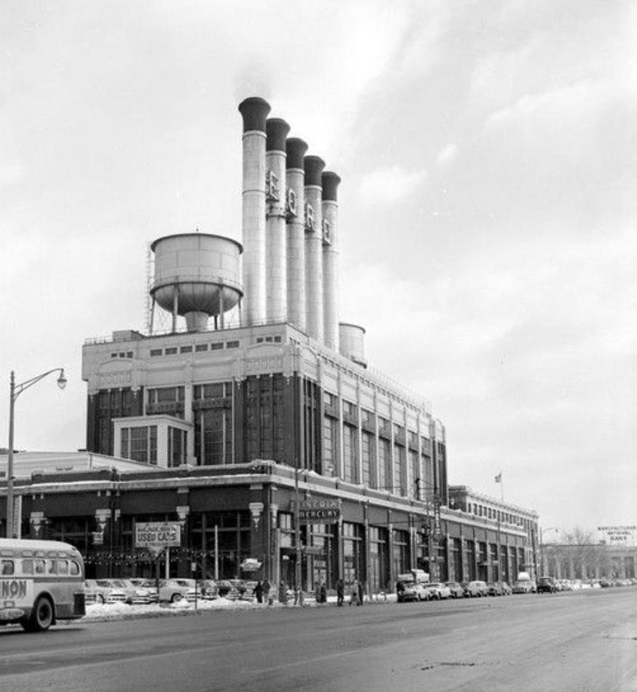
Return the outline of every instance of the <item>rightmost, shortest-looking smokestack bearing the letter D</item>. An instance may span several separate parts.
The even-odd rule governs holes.
[[[325,346],[339,350],[339,248],[336,190],[341,178],[332,171],[321,176],[323,188],[323,329]]]

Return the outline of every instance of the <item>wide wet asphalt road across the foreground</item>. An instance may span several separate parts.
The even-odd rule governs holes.
[[[0,629],[6,692],[637,692],[637,588]]]

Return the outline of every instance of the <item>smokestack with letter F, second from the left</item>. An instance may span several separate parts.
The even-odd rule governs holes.
[[[286,282],[286,137],[290,126],[269,118],[267,132],[267,216],[265,228],[265,302],[268,322],[285,322],[288,287]]]

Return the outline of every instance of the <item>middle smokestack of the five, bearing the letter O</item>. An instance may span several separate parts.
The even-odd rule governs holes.
[[[305,169],[303,159],[308,145],[296,137],[286,142],[286,184],[288,219],[288,321],[305,332]]]

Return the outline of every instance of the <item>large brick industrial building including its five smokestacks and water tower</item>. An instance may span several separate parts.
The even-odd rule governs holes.
[[[83,349],[85,454],[102,468],[21,478],[16,456],[20,530],[73,542],[96,575],[152,572],[142,521],[181,523],[181,576],[245,576],[248,560],[273,581],[373,593],[412,566],[457,581],[532,569],[537,514],[450,492],[444,425],[339,321],[339,177],[265,101],[240,111],[243,245],[153,243],[149,328]]]

